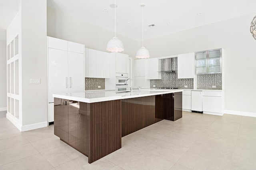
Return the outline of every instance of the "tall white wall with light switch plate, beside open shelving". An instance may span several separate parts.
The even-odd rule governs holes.
[[[46,0],[22,0],[21,8],[22,125],[47,123]],[[30,78],[41,84],[30,84]]]

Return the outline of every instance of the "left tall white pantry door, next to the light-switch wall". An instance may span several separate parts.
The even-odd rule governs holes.
[[[68,92],[68,51],[48,49],[49,53],[49,103],[54,102],[52,94]]]

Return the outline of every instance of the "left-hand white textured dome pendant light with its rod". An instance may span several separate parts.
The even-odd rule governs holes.
[[[121,52],[124,51],[124,45],[118,37],[116,37],[116,0],[115,0],[115,37],[108,41],[107,51],[110,52]]]

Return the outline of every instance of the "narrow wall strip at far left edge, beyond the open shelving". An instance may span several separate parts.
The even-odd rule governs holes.
[[[6,110],[6,41],[0,41],[0,111]]]

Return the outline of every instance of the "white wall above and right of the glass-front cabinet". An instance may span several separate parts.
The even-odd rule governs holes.
[[[250,33],[255,15],[203,25],[146,40],[144,44],[151,57],[223,48],[224,109],[256,114],[256,40]]]

